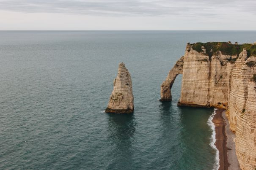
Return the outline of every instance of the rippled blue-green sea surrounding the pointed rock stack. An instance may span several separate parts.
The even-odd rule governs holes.
[[[213,109],[161,103],[187,42],[256,41],[256,32],[0,31],[0,169],[212,169]],[[118,63],[135,112],[104,113]]]

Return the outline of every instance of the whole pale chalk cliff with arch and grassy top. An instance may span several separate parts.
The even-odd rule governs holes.
[[[236,153],[244,170],[256,168],[256,44],[187,44],[161,85],[161,100],[171,100],[171,86],[183,74],[178,105],[227,109],[236,132]]]

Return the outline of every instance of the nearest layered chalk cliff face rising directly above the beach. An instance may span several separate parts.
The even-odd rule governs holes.
[[[256,168],[256,57],[237,61],[241,70],[231,75],[228,105],[231,130],[236,132],[236,153],[242,169]],[[232,95],[231,95],[232,94]]]

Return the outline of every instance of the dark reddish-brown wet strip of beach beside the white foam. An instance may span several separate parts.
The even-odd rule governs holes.
[[[225,120],[222,117],[224,109],[215,109],[215,115],[212,122],[215,125],[215,146],[219,151],[219,170],[228,170],[228,148],[227,148],[227,135],[225,132]]]

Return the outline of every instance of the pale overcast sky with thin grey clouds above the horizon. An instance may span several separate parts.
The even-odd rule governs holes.
[[[256,0],[0,0],[0,30],[256,30]]]

